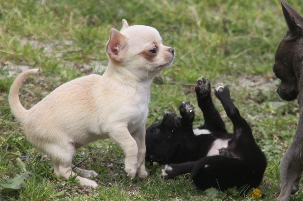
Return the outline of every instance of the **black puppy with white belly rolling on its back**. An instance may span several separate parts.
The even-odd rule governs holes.
[[[146,160],[168,164],[161,178],[191,173],[195,186],[238,190],[257,187],[263,178],[266,159],[255,143],[251,128],[231,101],[229,89],[219,86],[215,95],[221,101],[234,133],[226,131],[211,99],[210,82],[200,77],[196,85],[198,106],[203,112],[204,125],[193,130],[194,108],[181,102],[180,114],[165,114],[162,122],[146,130]]]

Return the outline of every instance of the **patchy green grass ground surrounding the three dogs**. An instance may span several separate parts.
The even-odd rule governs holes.
[[[303,14],[303,3],[289,0]],[[32,107],[59,85],[90,73],[102,74],[108,63],[105,44],[111,28],[149,25],[163,43],[175,48],[173,65],[152,85],[147,126],[166,112],[178,113],[179,103],[196,108],[195,126],[203,116],[194,85],[203,75],[213,87],[225,84],[240,113],[251,125],[268,167],[258,187],[262,200],[275,200],[280,159],[291,143],[298,121],[298,105],[282,102],[275,93],[279,81],[272,73],[275,50],[287,31],[278,0],[214,1],[34,1],[0,2],[0,184],[22,170],[21,157],[31,174],[25,187],[0,194],[0,200],[258,200],[226,192],[197,190],[189,175],[159,179],[161,167],[147,166],[148,181],[130,180],[123,170],[123,152],[109,140],[77,151],[74,163],[100,173],[98,189],[78,186],[53,173],[53,164],[32,147],[8,107],[8,91],[22,69],[40,68],[20,91],[26,108]],[[214,98],[218,110],[232,125]],[[299,193],[292,200],[302,200]]]

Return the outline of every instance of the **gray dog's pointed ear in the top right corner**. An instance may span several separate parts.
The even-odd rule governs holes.
[[[288,29],[292,34],[301,34],[303,18],[285,0],[281,0],[281,6]]]

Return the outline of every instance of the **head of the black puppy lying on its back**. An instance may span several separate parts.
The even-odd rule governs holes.
[[[179,147],[181,117],[165,114],[162,122],[152,124],[146,130],[146,161],[165,164]]]

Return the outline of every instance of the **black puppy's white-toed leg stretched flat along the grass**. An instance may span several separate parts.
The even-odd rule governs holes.
[[[186,163],[165,165],[165,167],[162,169],[161,179],[168,180],[178,175],[191,173],[191,170],[194,167],[195,163],[196,161],[191,161]]]

